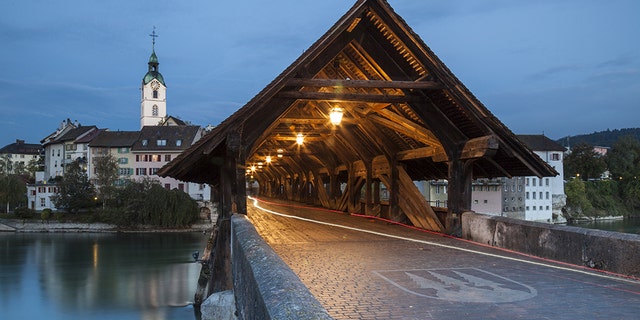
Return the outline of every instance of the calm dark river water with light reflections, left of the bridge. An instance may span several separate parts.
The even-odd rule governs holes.
[[[2,233],[0,319],[190,319],[202,233]]]

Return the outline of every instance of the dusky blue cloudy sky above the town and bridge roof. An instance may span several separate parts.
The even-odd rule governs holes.
[[[154,26],[168,113],[217,125],[354,3],[2,1],[0,146],[67,118],[138,130]],[[640,127],[640,1],[389,3],[515,133]]]

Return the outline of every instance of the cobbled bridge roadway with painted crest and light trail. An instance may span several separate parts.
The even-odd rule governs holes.
[[[335,319],[637,319],[640,282],[282,203],[249,219]]]

